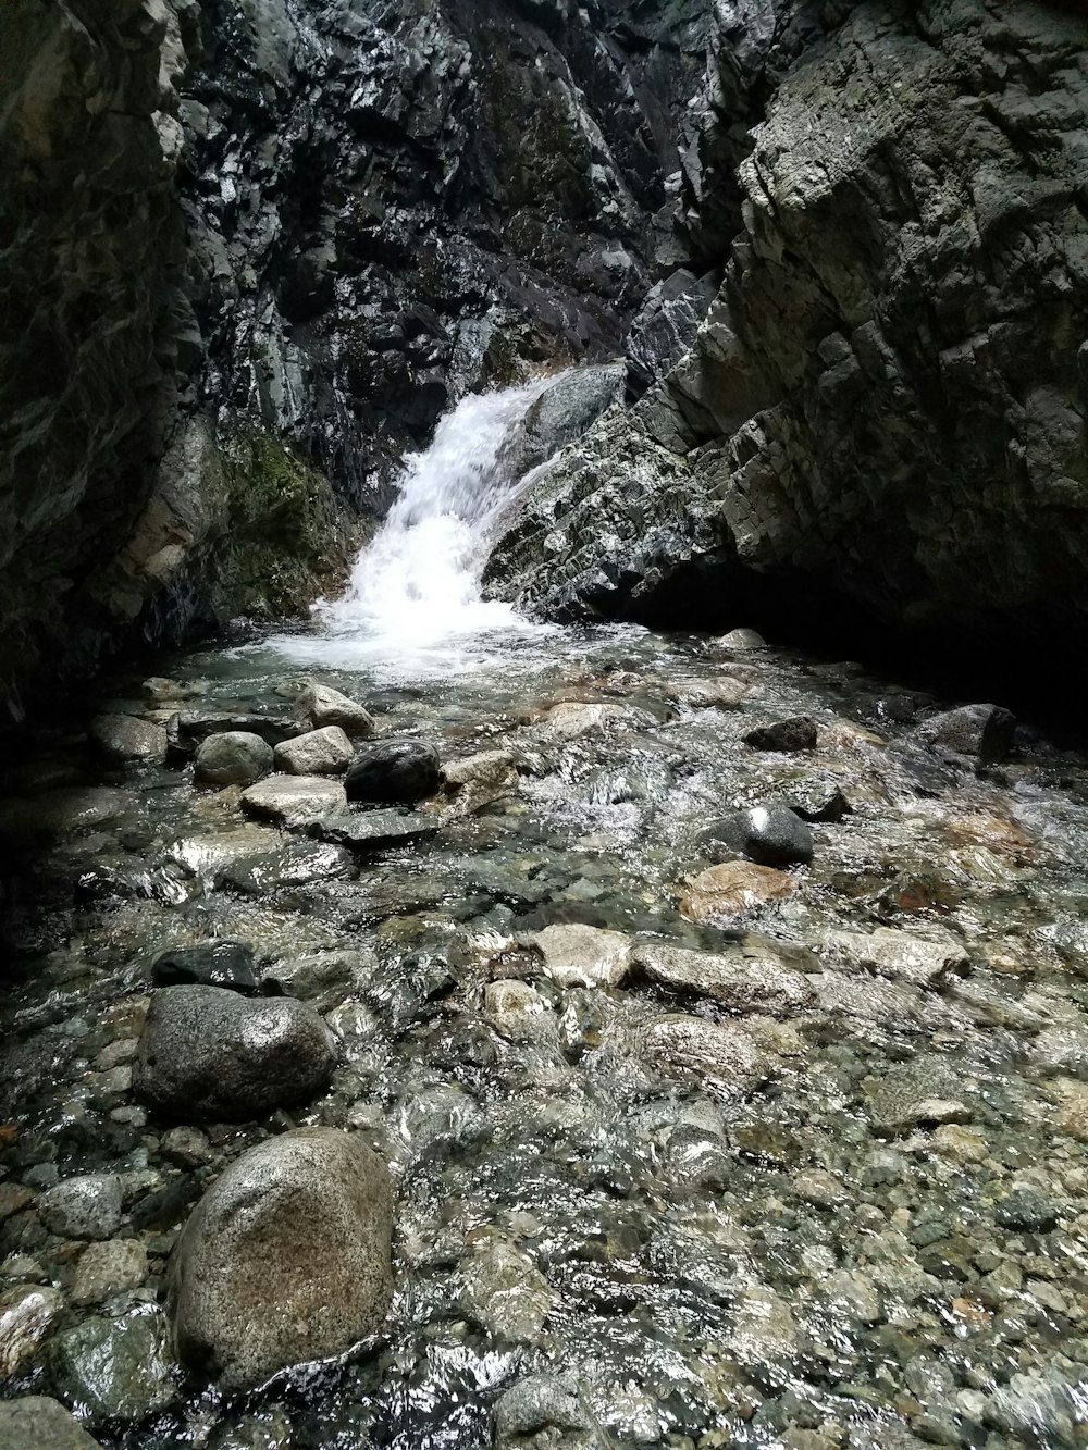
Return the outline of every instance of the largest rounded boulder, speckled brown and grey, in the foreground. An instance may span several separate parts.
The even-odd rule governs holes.
[[[236,1159],[170,1264],[178,1354],[228,1391],[339,1354],[392,1293],[389,1170],[360,1135],[300,1128]]]

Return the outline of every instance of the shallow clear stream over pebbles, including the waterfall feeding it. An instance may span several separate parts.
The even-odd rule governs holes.
[[[20,1295],[57,1298],[4,1392],[110,1450],[1088,1443],[1085,758],[1021,725],[981,764],[926,734],[962,702],[743,631],[483,600],[534,397],[444,420],[310,626],[118,674],[9,763],[0,1351]],[[347,860],[178,753],[87,741],[96,710],[290,718],[310,679],[377,740],[485,757],[424,803],[434,834]],[[796,719],[807,742],[746,740]],[[717,829],[782,802],[808,863]],[[213,937],[323,964],[338,1066],[183,1141],[131,1064],[152,958]],[[170,1253],[225,1163],[300,1125],[390,1164],[393,1304],[229,1399],[173,1360]],[[136,1241],[90,1299],[35,1212],[88,1173]]]

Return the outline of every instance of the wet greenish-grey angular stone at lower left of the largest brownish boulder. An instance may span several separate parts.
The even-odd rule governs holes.
[[[144,1420],[177,1395],[165,1320],[147,1305],[64,1330],[49,1343],[48,1359],[58,1396],[87,1411],[93,1424]]]

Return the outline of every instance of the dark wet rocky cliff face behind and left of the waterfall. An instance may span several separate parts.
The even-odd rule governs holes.
[[[460,393],[614,355],[704,0],[12,0],[0,686],[305,606]],[[677,178],[673,178],[676,184]]]

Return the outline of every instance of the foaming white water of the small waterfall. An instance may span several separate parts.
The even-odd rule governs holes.
[[[470,394],[409,454],[400,496],[355,560],[341,599],[315,606],[316,629],[270,644],[294,660],[400,679],[471,670],[499,632],[538,634],[511,605],[485,600],[480,574],[498,515],[518,487],[502,447],[545,383]]]

